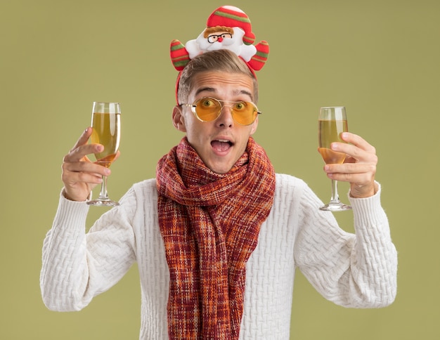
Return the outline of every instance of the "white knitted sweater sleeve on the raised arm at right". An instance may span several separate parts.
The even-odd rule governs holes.
[[[355,234],[340,229],[307,187],[300,207],[295,262],[326,299],[340,306],[380,308],[396,296],[397,253],[387,216],[373,197],[350,199]]]

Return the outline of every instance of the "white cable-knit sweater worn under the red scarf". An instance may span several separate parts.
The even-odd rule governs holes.
[[[350,202],[356,235],[341,230],[332,213],[318,209],[322,202],[303,181],[276,175],[275,202],[246,266],[240,339],[289,339],[296,268],[341,306],[377,308],[394,301],[397,256],[380,190]],[[85,233],[89,206],[61,195],[44,240],[44,303],[51,310],[80,310],[137,261],[140,339],[168,339],[169,270],[157,221],[155,179],[136,183],[120,203]]]

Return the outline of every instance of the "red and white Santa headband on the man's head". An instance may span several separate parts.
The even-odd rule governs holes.
[[[209,15],[205,30],[197,39],[183,45],[174,39],[170,46],[171,60],[179,71],[176,81],[176,101],[181,72],[195,56],[207,51],[228,49],[233,51],[250,68],[252,73],[261,70],[269,53],[267,41],[253,45],[255,35],[252,33],[250,19],[245,12],[234,6],[221,6]],[[255,74],[255,73],[254,73]]]

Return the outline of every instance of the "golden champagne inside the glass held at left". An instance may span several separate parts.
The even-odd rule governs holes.
[[[96,163],[110,167],[119,148],[121,115],[93,112],[91,126],[91,143],[104,145],[103,152],[95,154]]]

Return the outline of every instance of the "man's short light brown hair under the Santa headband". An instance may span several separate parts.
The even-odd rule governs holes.
[[[193,79],[197,74],[202,72],[227,72],[235,74],[245,74],[252,78],[254,83],[254,93],[252,93],[252,101],[258,102],[258,83],[255,75],[251,72],[242,58],[235,53],[222,49],[217,51],[209,51],[202,53],[190,62],[183,69],[177,91],[177,100],[179,104],[186,103],[189,93],[193,89]]]

